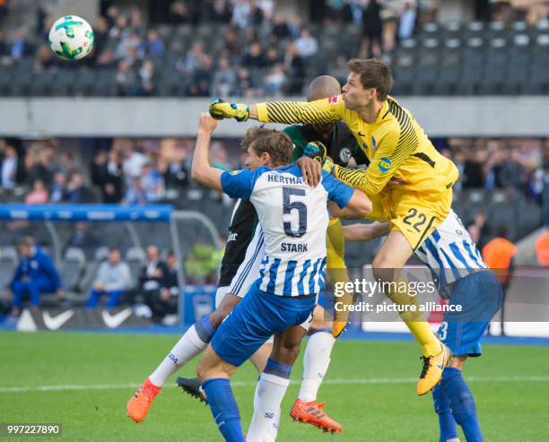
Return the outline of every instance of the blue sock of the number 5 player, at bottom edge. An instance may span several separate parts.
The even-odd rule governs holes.
[[[244,442],[239,406],[232,394],[229,379],[213,378],[202,384],[210,403],[213,419],[227,442]]]

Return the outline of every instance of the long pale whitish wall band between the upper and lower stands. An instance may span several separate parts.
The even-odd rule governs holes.
[[[299,99],[296,99],[299,100]],[[431,136],[549,136],[549,97],[405,97]],[[208,100],[3,99],[0,136],[194,135]],[[256,124],[223,122],[222,136]]]

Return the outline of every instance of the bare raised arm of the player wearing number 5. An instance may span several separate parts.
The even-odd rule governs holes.
[[[195,154],[191,166],[192,178],[215,190],[222,191],[221,176],[222,170],[213,168],[210,165],[210,142],[212,134],[217,127],[217,121],[209,114],[203,112],[200,114],[198,123],[198,136],[196,137]]]

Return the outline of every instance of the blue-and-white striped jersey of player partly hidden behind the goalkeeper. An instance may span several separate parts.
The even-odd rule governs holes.
[[[429,267],[439,289],[470,273],[488,268],[469,232],[452,210],[423,245],[415,250],[415,256]]]

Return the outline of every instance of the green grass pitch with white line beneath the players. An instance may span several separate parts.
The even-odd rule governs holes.
[[[14,386],[94,386],[137,384],[170,350],[177,336],[148,334],[0,334],[0,420],[2,422],[55,422],[63,438],[85,441],[218,441],[210,411],[182,394],[164,388],[141,424],[126,417],[132,387],[65,391],[3,392]],[[298,393],[292,384],[283,402],[278,440],[318,441],[433,441],[438,440],[437,417],[431,395],[418,397],[414,382],[420,369],[412,342],[337,342],[319,399],[328,414],[344,425],[337,436],[295,423],[288,417]],[[301,360],[292,379],[301,377]],[[192,375],[195,363],[181,370]],[[475,394],[484,439],[539,441],[549,435],[549,351],[545,347],[484,346],[484,356],[470,360],[466,376]],[[510,380],[510,377],[542,377]],[[360,384],[353,379],[402,379],[390,384]],[[246,364],[234,377],[243,427],[251,416],[257,379]],[[336,385],[335,379],[349,383]],[[503,379],[503,380],[501,380]],[[331,382],[331,383],[330,383]],[[367,382],[367,381],[366,381]],[[245,385],[242,385],[244,383]],[[167,384],[171,386],[172,379]],[[39,440],[47,440],[40,438]],[[465,438],[461,438],[465,441]]]

